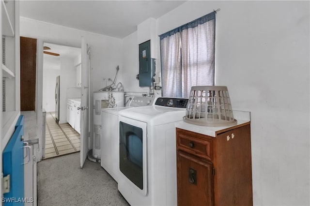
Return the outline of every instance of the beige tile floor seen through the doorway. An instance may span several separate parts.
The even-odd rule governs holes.
[[[44,159],[80,150],[80,135],[68,123],[57,124],[55,113],[47,112]]]

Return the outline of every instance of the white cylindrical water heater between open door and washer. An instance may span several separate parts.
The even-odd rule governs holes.
[[[93,92],[93,150],[89,155],[93,162],[101,159],[101,109],[115,107],[124,107],[124,91]]]

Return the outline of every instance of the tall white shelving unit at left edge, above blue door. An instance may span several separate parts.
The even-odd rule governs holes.
[[[20,115],[19,1],[0,0],[0,148],[10,140]],[[4,40],[4,41],[3,41]],[[5,90],[3,90],[3,86]],[[4,95],[4,98],[2,97]]]

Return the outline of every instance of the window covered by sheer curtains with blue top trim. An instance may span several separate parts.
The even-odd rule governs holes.
[[[187,98],[192,86],[214,85],[215,14],[160,35],[163,96]]]

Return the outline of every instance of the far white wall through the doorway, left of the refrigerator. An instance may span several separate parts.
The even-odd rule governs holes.
[[[56,77],[60,75],[60,58],[53,58],[54,63],[47,60],[44,55],[43,61],[43,108],[47,112],[55,112],[55,86]]]

